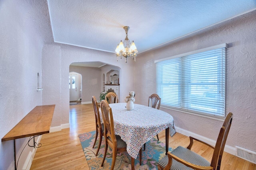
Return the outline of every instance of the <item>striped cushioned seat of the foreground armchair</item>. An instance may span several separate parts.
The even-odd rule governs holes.
[[[184,147],[179,146],[176,149],[174,149],[171,153],[192,164],[196,164],[199,166],[210,166],[210,163],[205,158]],[[159,160],[158,164],[163,168],[166,167],[166,165],[168,164],[168,156],[166,155],[164,158]],[[172,159],[172,166],[170,170],[193,170],[193,169]]]

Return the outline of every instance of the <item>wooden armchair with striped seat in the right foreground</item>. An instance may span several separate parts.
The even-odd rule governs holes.
[[[158,161],[158,170],[220,170],[221,158],[228,137],[228,132],[232,123],[232,118],[233,114],[228,113],[220,129],[220,133],[215,147],[212,147],[208,143],[205,143],[193,137],[189,137],[190,144],[187,148],[179,146],[172,152],[168,152],[164,158]],[[191,151],[194,140],[199,141],[214,149],[211,163],[199,154]]]

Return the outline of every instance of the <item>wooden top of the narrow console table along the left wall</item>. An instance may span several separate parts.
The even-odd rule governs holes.
[[[3,141],[49,133],[55,105],[36,106],[3,138]]]

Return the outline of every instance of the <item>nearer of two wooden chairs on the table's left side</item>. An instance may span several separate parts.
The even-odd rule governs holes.
[[[119,135],[115,135],[114,131],[114,120],[112,115],[112,109],[109,107],[108,102],[106,100],[102,100],[100,102],[100,108],[102,113],[102,119],[104,122],[104,135],[105,135],[105,153],[102,160],[101,166],[104,164],[104,160],[106,158],[106,154],[108,152],[108,146],[112,149],[112,165],[111,170],[114,169],[117,152],[126,151],[126,143],[121,139]],[[141,165],[141,156],[142,150],[140,149],[140,165]]]

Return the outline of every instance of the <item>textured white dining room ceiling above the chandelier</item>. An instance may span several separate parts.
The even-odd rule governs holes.
[[[256,9],[256,0],[48,0],[54,42],[114,52],[123,27],[139,53]]]

